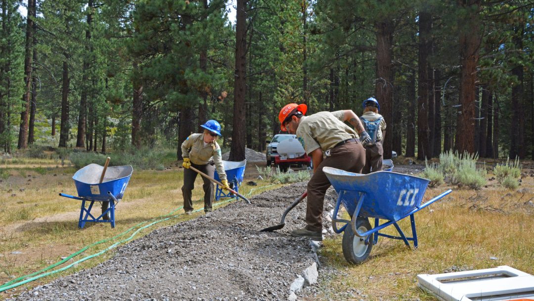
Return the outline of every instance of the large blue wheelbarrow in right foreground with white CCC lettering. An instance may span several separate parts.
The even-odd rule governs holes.
[[[323,171],[335,191],[337,202],[332,217],[332,228],[335,233],[343,233],[343,256],[349,263],[360,264],[369,254],[378,237],[403,240],[407,246],[409,241],[417,248],[417,231],[413,214],[451,193],[451,189],[421,205],[427,189],[427,179],[421,177],[379,171],[370,174],[345,172],[341,169],[324,167]],[[337,218],[340,205],[350,215],[350,220]],[[397,222],[410,217],[412,237],[406,237]],[[369,218],[374,218],[374,228]],[[379,219],[386,222],[379,224]],[[337,228],[337,223],[344,223]],[[347,226],[349,226],[347,229]],[[394,225],[399,236],[380,233],[380,230]]]

